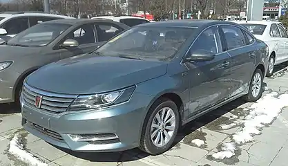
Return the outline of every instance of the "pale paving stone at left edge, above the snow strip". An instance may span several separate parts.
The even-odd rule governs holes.
[[[1,118],[1,120],[2,122],[0,122],[0,133],[21,127],[21,117],[15,114],[11,116],[5,116]]]

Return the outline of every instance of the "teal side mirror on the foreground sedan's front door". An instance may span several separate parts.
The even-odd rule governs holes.
[[[186,61],[198,61],[198,62],[205,62],[205,61],[211,61],[215,57],[215,54],[211,53],[209,50],[195,50],[193,53],[186,57]]]

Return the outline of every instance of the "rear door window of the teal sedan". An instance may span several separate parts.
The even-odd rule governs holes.
[[[221,26],[228,49],[240,48],[246,45],[242,30],[236,26]]]

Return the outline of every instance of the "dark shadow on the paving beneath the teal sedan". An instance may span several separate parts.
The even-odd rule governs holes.
[[[264,91],[264,90],[263,90]],[[215,109],[213,111],[210,111],[209,113],[206,113],[204,116],[201,116],[200,118],[196,118],[195,120],[189,122],[188,124],[185,124],[180,131],[178,131],[177,136],[175,138],[175,141],[173,142],[173,146],[170,150],[173,150],[173,147],[177,147],[177,144],[183,140],[186,136],[193,133],[197,129],[200,129],[201,127],[212,127],[215,125],[212,124],[213,122],[223,124],[221,118],[225,113],[230,112],[231,110],[235,110],[238,107],[240,107],[242,104],[245,104],[244,100],[241,98],[234,100],[232,102],[229,102],[228,104],[225,104],[224,106]],[[219,125],[218,125],[219,126]],[[52,145],[55,147],[55,145]],[[67,154],[70,154],[72,156],[75,156],[77,158],[81,158],[84,160],[89,160],[90,162],[127,162],[127,161],[133,161],[133,160],[139,160],[140,158],[146,158],[147,156],[150,156],[149,154],[146,154],[140,149],[131,149],[128,151],[120,151],[120,152],[110,152],[110,153],[85,153],[85,152],[75,152],[70,151],[69,149],[64,149],[61,147],[56,147],[57,149],[66,152]]]

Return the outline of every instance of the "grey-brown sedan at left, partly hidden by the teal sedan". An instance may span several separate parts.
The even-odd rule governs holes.
[[[24,78],[40,66],[89,53],[127,28],[107,20],[57,19],[24,30],[0,45],[0,103],[18,103]]]

